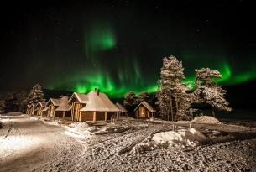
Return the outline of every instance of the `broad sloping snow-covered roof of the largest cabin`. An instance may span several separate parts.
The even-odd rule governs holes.
[[[86,106],[80,111],[120,112],[118,107],[102,92],[90,91],[86,97]]]

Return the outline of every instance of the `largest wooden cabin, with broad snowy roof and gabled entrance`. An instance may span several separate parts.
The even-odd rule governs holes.
[[[106,122],[112,117],[117,117],[120,112],[107,95],[100,91],[90,91],[86,95],[75,92],[69,104],[71,104],[72,121]]]

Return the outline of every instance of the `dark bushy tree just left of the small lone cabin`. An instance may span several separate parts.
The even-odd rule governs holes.
[[[128,110],[128,112],[133,112],[134,108],[138,105],[137,97],[134,91],[129,91],[125,94],[123,100],[123,106]]]

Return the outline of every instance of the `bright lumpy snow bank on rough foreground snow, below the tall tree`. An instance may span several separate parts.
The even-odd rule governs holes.
[[[168,131],[155,133],[152,140],[156,143],[169,143],[173,145],[174,143],[184,143],[185,146],[196,146],[199,142],[202,142],[206,137],[195,128],[180,129],[177,132]]]

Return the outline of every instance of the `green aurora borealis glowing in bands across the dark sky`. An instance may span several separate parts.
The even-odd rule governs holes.
[[[159,80],[162,57],[155,59],[157,60],[155,63],[159,66],[158,68],[149,70],[151,74],[154,73],[153,76],[149,76],[150,74],[147,74],[141,69],[142,64],[138,62],[136,55],[124,55],[121,61],[119,59],[110,61],[102,60],[103,58],[107,58],[106,54],[113,55],[116,52],[115,49],[117,46],[118,39],[116,39],[112,27],[104,24],[96,24],[95,27],[91,27],[91,29],[85,32],[83,52],[86,65],[84,69],[70,71],[67,76],[64,78],[61,77],[59,81],[55,80],[48,88],[53,90],[65,89],[80,93],[86,93],[94,90],[94,88],[98,88],[111,97],[122,97],[128,91],[135,91],[136,93],[141,91],[148,91],[149,93],[157,91],[157,81]],[[198,63],[194,62],[190,65],[191,70],[187,71],[186,67],[194,59],[190,56],[177,56],[179,60],[183,61],[185,67],[184,83],[188,83],[190,87],[192,87],[192,83],[195,80],[193,69],[199,69],[201,67],[210,67],[219,70],[222,78],[218,82],[222,86],[239,84],[256,78],[255,68],[252,67],[246,71],[235,70],[235,67],[226,58],[217,59],[217,55],[210,55],[207,58],[210,60],[201,60]],[[104,61],[106,64],[104,64]],[[148,61],[144,61],[143,63],[147,64]],[[102,65],[97,66],[98,64]]]

